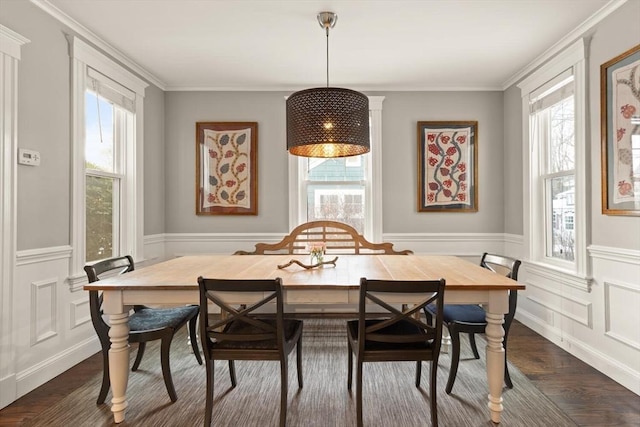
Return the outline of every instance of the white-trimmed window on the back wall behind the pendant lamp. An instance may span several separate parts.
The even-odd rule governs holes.
[[[381,122],[384,97],[369,97],[371,151],[336,159],[289,156],[290,228],[340,221],[371,241],[382,237]]]

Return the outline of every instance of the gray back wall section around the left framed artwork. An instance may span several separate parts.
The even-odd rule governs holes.
[[[285,93],[167,92],[167,233],[286,232]],[[258,215],[196,215],[196,122],[258,122]],[[283,233],[284,234],[284,233]]]

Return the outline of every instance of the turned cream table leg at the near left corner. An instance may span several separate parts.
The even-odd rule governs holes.
[[[109,380],[111,381],[111,412],[116,423],[124,421],[127,409],[127,382],[129,380],[129,313],[110,314]]]

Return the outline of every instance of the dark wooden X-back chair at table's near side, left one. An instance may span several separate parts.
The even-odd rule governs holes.
[[[280,426],[287,423],[288,358],[295,347],[298,387],[302,388],[302,321],[284,318],[282,280],[222,280],[198,277],[200,288],[200,339],[207,368],[204,425],[211,425],[214,361],[228,360],[232,388],[236,386],[235,360],[280,362]],[[225,293],[242,295],[236,308],[225,301]],[[209,302],[220,307],[221,320],[209,318]],[[275,303],[275,317],[256,314],[267,303]]]

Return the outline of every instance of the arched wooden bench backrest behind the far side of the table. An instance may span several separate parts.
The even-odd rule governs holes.
[[[407,255],[396,251],[393,243],[371,243],[352,226],[338,221],[311,221],[300,224],[278,243],[256,243],[253,252],[236,251],[235,255],[269,255],[308,253],[309,247],[322,243],[328,254]]]

